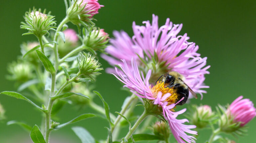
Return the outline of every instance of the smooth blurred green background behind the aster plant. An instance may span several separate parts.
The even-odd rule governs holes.
[[[153,1],[153,0],[99,0],[104,5],[95,15],[98,21],[96,25],[104,28],[112,37],[113,30],[126,31],[132,36],[132,21],[142,25],[144,20],[152,20],[152,14],[159,16],[159,25],[170,18],[173,23],[183,23],[180,34],[188,33],[189,41],[199,45],[198,53],[202,57],[207,56],[207,65],[211,65],[210,74],[206,75],[205,84],[210,86],[203,100],[191,100],[191,103],[208,104],[213,108],[217,104],[225,105],[231,103],[239,95],[250,98],[256,103],[255,73],[256,73],[256,1],[222,1],[222,0],[197,0],[197,1]],[[65,17],[63,0],[23,0],[0,2],[0,46],[1,46],[1,68],[0,68],[0,91],[13,90],[14,82],[7,81],[6,66],[17,55],[20,55],[20,44],[23,41],[34,41],[33,35],[21,36],[26,31],[20,29],[23,15],[29,8],[47,9],[56,16],[57,23]],[[71,23],[70,27],[76,29]],[[103,68],[109,65],[99,59]],[[110,111],[120,111],[123,100],[129,95],[120,90],[122,85],[114,76],[104,73],[98,76],[97,88],[110,105]],[[101,105],[100,100],[96,102]],[[27,132],[17,125],[7,126],[10,120],[26,121],[30,125],[41,123],[41,113],[36,111],[26,101],[20,101],[6,95],[0,95],[0,103],[6,110],[7,120],[0,123],[1,143],[30,143]],[[183,106],[186,107],[187,105]],[[141,113],[141,107],[136,107],[137,113]],[[64,111],[65,110],[65,111]],[[82,113],[93,112],[90,108],[77,111],[67,105],[59,113],[61,121],[66,122]],[[56,143],[80,143],[78,137],[71,130],[71,126],[83,126],[98,139],[104,139],[107,131],[104,126],[107,122],[100,118],[92,118],[69,125],[56,132],[52,132],[51,139]],[[256,119],[248,125],[248,135],[232,139],[237,143],[255,143]],[[122,134],[126,133],[126,129]],[[197,143],[204,143],[209,138],[210,132],[199,130]],[[54,142],[53,142],[54,143]]]

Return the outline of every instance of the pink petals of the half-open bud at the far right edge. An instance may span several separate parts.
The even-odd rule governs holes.
[[[231,112],[235,122],[241,122],[240,126],[246,125],[256,116],[256,109],[250,99],[242,99],[243,96],[236,98],[227,109]]]

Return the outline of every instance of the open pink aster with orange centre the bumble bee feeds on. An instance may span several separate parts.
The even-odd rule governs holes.
[[[124,87],[131,89],[131,92],[141,98],[152,100],[155,105],[158,105],[162,109],[162,114],[164,118],[168,120],[171,131],[178,143],[186,143],[185,141],[195,143],[195,138],[191,135],[187,135],[185,132],[197,134],[196,131],[191,130],[191,128],[195,128],[196,126],[185,125],[184,123],[188,122],[187,119],[176,119],[176,117],[184,113],[186,109],[178,112],[174,112],[172,110],[178,102],[183,100],[183,98],[177,102],[177,95],[172,92],[172,89],[164,88],[163,82],[160,82],[151,88],[149,84],[151,70],[149,70],[146,77],[144,77],[141,75],[138,65],[134,59],[131,60],[131,68],[125,60],[122,61],[123,64],[119,64],[121,71],[115,68],[117,75],[113,75],[125,84]]]

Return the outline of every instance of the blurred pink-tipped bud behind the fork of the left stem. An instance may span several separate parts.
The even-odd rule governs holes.
[[[75,49],[78,45],[78,37],[76,35],[75,30],[66,29],[63,31],[63,33],[65,35],[65,43],[63,42],[61,37],[58,38],[58,53],[60,57],[64,57],[70,51]]]

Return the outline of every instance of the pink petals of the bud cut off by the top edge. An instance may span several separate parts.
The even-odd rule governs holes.
[[[91,15],[89,18],[92,18],[95,14],[99,13],[98,10],[100,7],[104,7],[98,3],[98,0],[79,0],[77,3],[81,3],[81,7],[85,6],[83,11],[86,12],[87,15]]]

